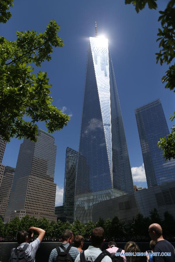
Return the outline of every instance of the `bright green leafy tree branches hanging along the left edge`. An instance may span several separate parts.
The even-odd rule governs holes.
[[[13,0],[0,0],[0,22],[10,19],[12,6]],[[50,61],[53,47],[63,47],[57,36],[59,29],[60,25],[51,20],[43,33],[17,31],[15,41],[0,37],[0,135],[5,141],[12,137],[36,141],[39,121],[53,133],[70,119],[52,104],[47,73],[34,74],[31,67],[35,65],[36,70],[43,61]]]

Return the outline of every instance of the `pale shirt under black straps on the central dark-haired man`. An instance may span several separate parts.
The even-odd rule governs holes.
[[[102,251],[99,247],[89,246],[88,249],[85,250],[85,259],[87,262],[93,262],[101,254]],[[76,257],[75,262],[80,262],[80,254]],[[109,256],[105,256],[101,262],[112,262],[112,259]]]

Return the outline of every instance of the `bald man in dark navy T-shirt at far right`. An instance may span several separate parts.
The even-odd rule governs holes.
[[[162,236],[162,227],[159,224],[151,224],[148,229],[149,236],[156,242],[154,252],[171,252],[171,256],[154,256],[153,261],[158,262],[173,262],[175,261],[175,249],[170,242]]]

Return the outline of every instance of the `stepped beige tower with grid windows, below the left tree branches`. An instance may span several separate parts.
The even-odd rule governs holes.
[[[9,204],[4,221],[16,215],[56,221],[54,183],[56,145],[54,137],[38,129],[37,142],[24,139],[20,145]]]

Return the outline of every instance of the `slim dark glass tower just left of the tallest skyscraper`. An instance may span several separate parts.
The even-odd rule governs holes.
[[[74,222],[74,195],[78,152],[70,147],[66,148],[63,206],[66,221]]]

